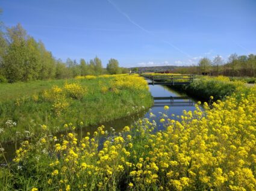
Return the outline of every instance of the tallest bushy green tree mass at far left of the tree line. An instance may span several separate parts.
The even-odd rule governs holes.
[[[1,70],[9,82],[55,77],[55,59],[42,41],[37,42],[27,35],[20,24],[7,28],[6,36]]]

